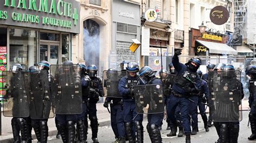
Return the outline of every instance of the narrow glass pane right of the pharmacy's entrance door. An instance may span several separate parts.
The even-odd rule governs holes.
[[[69,34],[62,34],[62,62],[69,60]]]

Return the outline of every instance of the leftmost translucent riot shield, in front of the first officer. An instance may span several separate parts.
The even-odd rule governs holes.
[[[29,117],[29,96],[25,89],[23,71],[3,71],[2,88],[6,89],[3,102],[5,117]]]

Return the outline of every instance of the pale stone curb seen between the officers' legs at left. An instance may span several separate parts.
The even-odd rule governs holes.
[[[110,125],[111,121],[109,119],[101,119],[102,121],[99,122],[99,126],[106,126]],[[89,127],[90,127],[90,121],[89,121]],[[48,131],[48,137],[56,135],[57,134],[57,128],[56,127],[49,127]],[[35,133],[32,131],[32,138],[33,141],[37,141]],[[0,136],[0,142],[4,143],[12,143],[14,141],[12,134],[5,135],[3,137]]]

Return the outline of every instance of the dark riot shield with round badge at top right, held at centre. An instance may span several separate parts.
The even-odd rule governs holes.
[[[144,108],[147,108],[148,114],[164,112],[164,95],[161,84],[135,85],[134,93],[137,113],[143,114]]]

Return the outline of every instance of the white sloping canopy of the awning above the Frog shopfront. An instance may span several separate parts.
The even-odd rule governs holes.
[[[209,53],[214,53],[214,54],[230,54],[230,55],[237,55],[237,51],[233,49],[232,47],[218,43],[218,42],[208,42],[208,41],[201,41],[201,40],[196,40],[199,42],[201,45],[204,45],[206,48],[209,49]]]

